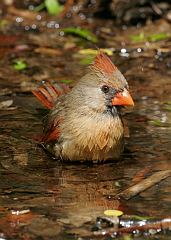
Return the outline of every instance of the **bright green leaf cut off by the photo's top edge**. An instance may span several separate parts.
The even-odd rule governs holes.
[[[63,6],[59,4],[58,0],[45,0],[45,7],[50,15],[58,15],[62,12]]]

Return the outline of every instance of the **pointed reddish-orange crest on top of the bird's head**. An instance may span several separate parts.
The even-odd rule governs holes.
[[[91,67],[107,74],[111,74],[117,70],[117,67],[102,51],[99,51]]]

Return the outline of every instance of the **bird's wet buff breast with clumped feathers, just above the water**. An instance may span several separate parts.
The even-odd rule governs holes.
[[[123,149],[123,125],[119,116],[80,117],[63,129],[61,155],[70,160],[116,159]]]

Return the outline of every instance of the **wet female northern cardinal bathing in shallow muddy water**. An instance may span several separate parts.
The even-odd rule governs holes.
[[[33,94],[51,109],[42,142],[56,158],[93,162],[119,158],[123,151],[119,106],[134,102],[126,79],[104,53],[97,54],[71,91],[46,83]]]

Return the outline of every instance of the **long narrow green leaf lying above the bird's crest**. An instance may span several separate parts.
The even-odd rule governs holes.
[[[96,36],[91,33],[89,30],[79,27],[68,27],[63,29],[64,33],[76,35],[80,38],[84,38],[90,42],[97,43]]]

